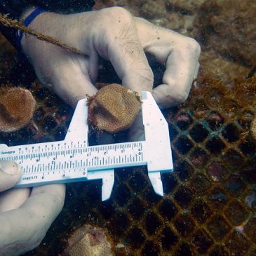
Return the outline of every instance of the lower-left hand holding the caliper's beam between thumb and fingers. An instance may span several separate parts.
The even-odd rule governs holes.
[[[21,169],[13,161],[0,161],[0,255],[21,255],[36,248],[62,210],[65,185],[11,189]]]

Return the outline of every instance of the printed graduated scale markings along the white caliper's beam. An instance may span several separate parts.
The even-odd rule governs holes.
[[[60,147],[59,147],[60,148]],[[115,164],[121,164],[121,163],[131,163],[131,162],[137,162],[137,161],[142,161],[142,155],[141,154],[136,154],[133,152],[133,154],[127,154],[130,152],[130,149],[135,149],[137,148],[139,151],[142,151],[142,143],[137,143],[137,142],[128,142],[126,144],[110,144],[107,146],[93,146],[93,147],[81,147],[80,149],[73,148],[70,149],[70,147],[65,146],[65,149],[62,151],[56,151],[56,147],[41,147],[40,149],[34,149],[33,154],[31,153],[32,151],[29,149],[28,151],[30,152],[29,154],[26,154],[24,150],[18,151],[18,156],[11,156],[11,159],[22,159],[22,162],[27,163],[27,161],[32,161],[32,159],[36,159],[37,162],[41,161],[44,159],[48,159],[48,163],[46,165],[43,163],[43,165],[37,166],[32,166],[32,168],[29,167],[26,172],[28,171],[29,173],[36,173],[43,171],[50,171],[50,170],[55,170],[55,169],[60,169],[61,167],[63,168],[63,164],[61,163],[62,160],[58,161],[58,163],[55,163],[55,160],[58,158],[58,156],[64,156],[65,159],[67,157],[71,156],[76,156],[77,159],[79,159],[80,162],[78,162],[77,159],[74,159],[74,162],[69,161],[68,163],[64,161],[65,163],[65,168],[74,168],[74,166],[81,167],[81,166],[105,166],[105,165],[115,165]],[[126,151],[128,150],[128,152]],[[114,151],[118,151],[117,154],[118,156],[109,156],[109,154],[114,154]],[[38,153],[36,153],[38,152]],[[88,152],[89,153],[89,161],[86,158],[86,161],[83,161],[81,157],[83,157],[83,153]],[[95,156],[95,153],[97,152],[97,156]],[[22,155],[20,155],[23,153]],[[142,152],[140,152],[142,153]],[[93,155],[91,155],[93,154]],[[98,156],[100,154],[100,156]],[[107,157],[104,157],[108,155]],[[53,161],[51,162],[50,158],[53,157]],[[6,158],[10,159],[10,157]],[[64,160],[64,159],[63,159]],[[130,161],[129,161],[130,160]],[[81,163],[81,165],[80,165]],[[89,163],[89,164],[88,164]],[[28,163],[27,163],[28,164]],[[114,167],[113,167],[114,168]]]

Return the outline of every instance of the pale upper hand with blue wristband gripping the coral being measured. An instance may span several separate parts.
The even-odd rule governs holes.
[[[22,18],[31,12],[32,9]],[[77,55],[27,34],[22,39],[22,49],[41,83],[73,107],[81,98],[96,93],[93,84],[97,80],[99,57],[112,62],[123,86],[137,92],[152,92],[161,107],[186,100],[198,71],[200,46],[194,39],[133,18],[123,8],[72,15],[42,13],[29,27],[88,55]],[[153,91],[153,73],[144,52],[166,66],[163,84]],[[140,126],[134,127],[131,137],[137,137]]]

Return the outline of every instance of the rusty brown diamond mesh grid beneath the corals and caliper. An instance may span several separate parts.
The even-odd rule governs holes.
[[[113,245],[124,245],[116,255],[256,255],[255,91],[241,102],[235,90],[214,81],[203,85],[184,105],[164,112],[175,172],[163,175],[163,198],[154,194],[147,168],[116,170],[112,197],[104,203],[101,182],[68,184],[62,213],[26,255],[62,255],[69,234],[85,223],[106,229]],[[38,83],[32,92],[38,130],[1,133],[1,143],[64,138],[72,109]]]

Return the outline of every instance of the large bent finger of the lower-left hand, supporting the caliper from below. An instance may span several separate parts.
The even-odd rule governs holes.
[[[36,248],[60,213],[64,198],[63,184],[36,187],[20,208],[1,213],[0,255],[20,255]]]

